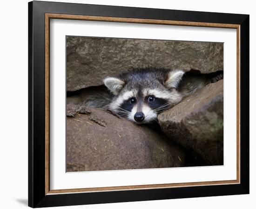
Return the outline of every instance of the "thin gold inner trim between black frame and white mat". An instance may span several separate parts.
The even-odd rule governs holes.
[[[236,180],[51,190],[50,189],[50,100],[49,100],[50,99],[50,19],[90,20],[90,21],[142,23],[142,24],[159,24],[159,25],[175,25],[175,26],[220,27],[220,28],[236,29],[236,34],[237,34],[237,43],[236,43],[237,44]],[[222,23],[207,23],[207,22],[150,20],[150,19],[116,18],[116,17],[46,13],[45,14],[45,165],[46,165],[45,166],[45,194],[46,195],[63,194],[63,193],[135,190],[135,189],[162,189],[162,188],[174,188],[174,187],[209,186],[209,185],[223,185],[223,184],[238,184],[238,183],[240,183],[240,25],[222,24]]]

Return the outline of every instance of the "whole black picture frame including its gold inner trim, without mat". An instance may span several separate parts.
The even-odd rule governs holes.
[[[237,179],[51,190],[50,19],[235,28],[237,32]],[[28,3],[28,26],[28,205],[30,207],[249,194],[249,15],[32,1]]]

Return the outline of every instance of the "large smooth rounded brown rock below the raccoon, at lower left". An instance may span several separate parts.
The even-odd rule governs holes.
[[[68,104],[67,115],[67,172],[185,165],[184,152],[166,137],[113,112]]]

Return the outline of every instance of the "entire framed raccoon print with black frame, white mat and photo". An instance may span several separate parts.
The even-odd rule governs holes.
[[[28,12],[30,207],[249,194],[249,15]]]

